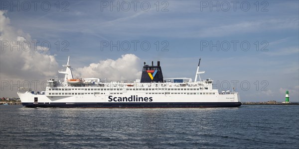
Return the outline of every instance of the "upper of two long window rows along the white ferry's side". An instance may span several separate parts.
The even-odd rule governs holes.
[[[165,90],[202,90],[203,88],[165,88]],[[208,89],[204,87],[204,89]],[[121,88],[49,88],[49,90],[122,90]],[[159,90],[158,88],[128,88],[128,90]]]

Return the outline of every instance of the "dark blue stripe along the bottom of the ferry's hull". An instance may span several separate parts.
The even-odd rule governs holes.
[[[239,107],[241,102],[113,102],[113,103],[22,103],[24,107],[58,108],[210,108]]]

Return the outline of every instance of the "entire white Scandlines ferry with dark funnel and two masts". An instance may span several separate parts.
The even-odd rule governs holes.
[[[201,80],[199,63],[194,81],[191,78],[163,78],[160,62],[154,66],[144,63],[141,79],[134,81],[106,81],[100,78],[73,78],[69,58],[64,80],[47,80],[45,91],[18,88],[24,107],[61,108],[206,108],[239,107],[240,95],[213,89],[213,80]],[[197,78],[199,80],[197,81]]]

